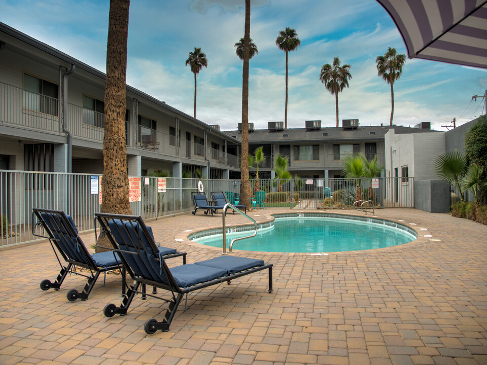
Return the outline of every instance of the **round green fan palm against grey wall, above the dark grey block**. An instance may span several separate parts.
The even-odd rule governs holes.
[[[435,160],[433,171],[440,179],[455,185],[460,193],[460,199],[465,201],[462,179],[467,175],[468,161],[464,154],[454,151],[439,155]]]

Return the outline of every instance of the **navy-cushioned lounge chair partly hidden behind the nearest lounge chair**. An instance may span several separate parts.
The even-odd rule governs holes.
[[[41,281],[42,290],[49,290],[50,288],[59,290],[66,275],[72,273],[88,278],[88,282],[81,293],[76,289],[70,289],[66,295],[67,299],[71,302],[76,301],[78,298],[87,300],[100,273],[122,268],[120,258],[112,251],[93,254],[88,252],[81,237],[78,235],[78,229],[70,215],[61,210],[33,208],[32,211],[32,214],[36,215],[38,220],[36,225],[32,226],[32,234],[49,239],[57,261],[61,266],[61,271],[55,282],[51,282],[49,279]],[[43,229],[42,233],[40,227]],[[177,252],[175,249],[167,247],[159,247],[159,250],[164,255],[164,258],[183,256],[183,262],[186,262],[186,252]],[[67,266],[61,264],[58,252],[67,263]],[[89,275],[77,272],[76,267],[89,270]]]

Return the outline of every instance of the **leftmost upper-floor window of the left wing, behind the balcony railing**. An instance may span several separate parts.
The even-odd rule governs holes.
[[[59,88],[56,84],[24,74],[23,89],[24,109],[58,115]]]

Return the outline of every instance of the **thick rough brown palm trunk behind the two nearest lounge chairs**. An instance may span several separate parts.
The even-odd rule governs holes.
[[[101,211],[131,214],[128,199],[125,108],[129,0],[110,0],[105,81],[105,136],[103,137],[103,179]],[[111,246],[108,239],[98,245]],[[97,251],[100,249],[97,247]],[[103,250],[103,249],[101,249]]]

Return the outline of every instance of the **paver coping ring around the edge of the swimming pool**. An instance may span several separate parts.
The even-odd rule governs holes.
[[[392,250],[392,249],[407,249],[407,248],[410,248],[410,247],[413,247],[413,246],[417,246],[417,245],[420,245],[420,244],[425,244],[425,243],[428,243],[428,241],[430,240],[433,240],[433,241],[437,241],[433,238],[433,235],[429,232],[428,228],[425,228],[425,227],[420,227],[420,225],[416,224],[416,223],[408,223],[406,221],[403,221],[403,220],[392,220],[390,218],[388,219],[385,219],[385,218],[380,218],[378,217],[377,215],[359,215],[359,214],[351,214],[351,213],[336,213],[336,212],[310,212],[310,211],[296,211],[296,212],[292,212],[292,213],[283,213],[283,212],[279,212],[279,213],[266,213],[266,212],[263,212],[262,214],[262,218],[260,218],[261,215],[259,215],[259,220],[256,219],[256,222],[257,222],[257,225],[263,225],[263,224],[266,224],[266,223],[269,223],[269,222],[273,222],[275,220],[275,217],[277,216],[296,216],[296,214],[304,214],[304,216],[332,216],[332,215],[341,215],[341,216],[354,216],[354,217],[358,217],[360,219],[357,219],[357,221],[361,221],[361,222],[367,222],[364,220],[364,218],[372,218],[372,219],[378,219],[378,220],[381,220],[381,221],[387,221],[387,222],[392,222],[392,223],[395,223],[397,225],[401,225],[401,226],[404,226],[404,227],[407,227],[410,231],[414,232],[415,235],[416,235],[416,239],[411,241],[411,242],[407,242],[407,243],[403,243],[403,244],[400,244],[400,245],[396,245],[396,246],[389,246],[389,247],[380,247],[380,248],[371,248],[371,249],[365,249],[365,250],[352,250],[352,251],[333,251],[333,252],[269,252],[269,251],[249,251],[249,250],[239,250],[239,249],[233,249],[232,250],[232,254],[242,254],[242,253],[246,253],[246,254],[259,254],[259,255],[275,255],[275,254],[280,254],[280,255],[289,255],[289,256],[295,256],[295,255],[298,255],[298,256],[320,256],[320,255],[323,255],[323,256],[328,256],[328,255],[340,255],[340,254],[366,254],[368,252],[382,252],[382,251],[389,251],[389,250]],[[255,216],[254,216],[255,217]],[[339,218],[339,217],[338,217]],[[252,224],[249,224],[249,223],[240,223],[240,224],[227,224],[226,225],[226,228],[237,228],[237,227],[251,227],[253,226]],[[221,225],[217,225],[217,226],[208,226],[208,227],[199,227],[198,229],[192,229],[192,230],[185,230],[183,232],[180,232],[180,233],[177,233],[173,238],[178,241],[179,243],[184,243],[184,244],[188,244],[190,246],[194,246],[194,247],[200,247],[200,248],[206,248],[206,249],[211,249],[211,250],[215,250],[215,251],[220,251],[222,252],[223,248],[222,247],[213,247],[213,246],[208,246],[208,245],[204,245],[204,244],[201,244],[201,243],[198,243],[198,242],[194,242],[194,241],[191,241],[189,239],[189,236],[191,234],[195,234],[197,232],[202,232],[202,231],[208,231],[208,230],[221,230],[222,229],[222,226]]]

